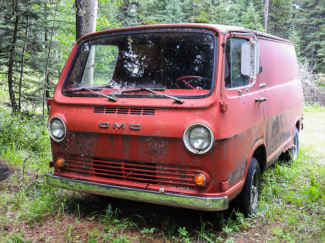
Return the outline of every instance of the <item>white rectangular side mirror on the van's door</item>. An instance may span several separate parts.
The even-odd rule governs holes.
[[[259,73],[259,44],[256,41],[245,42],[242,45],[241,73],[256,80]]]

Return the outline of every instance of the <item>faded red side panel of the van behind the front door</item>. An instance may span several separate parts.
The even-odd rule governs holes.
[[[267,38],[259,38],[262,73],[257,75],[266,120],[265,142],[268,164],[291,147],[296,121],[301,120],[302,84],[295,46]]]

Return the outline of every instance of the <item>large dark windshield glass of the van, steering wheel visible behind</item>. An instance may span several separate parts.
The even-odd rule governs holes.
[[[171,30],[92,39],[80,46],[63,94],[202,97],[214,86],[215,42],[209,32]]]

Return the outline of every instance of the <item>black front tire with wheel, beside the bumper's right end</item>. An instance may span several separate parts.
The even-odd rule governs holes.
[[[259,170],[257,159],[252,157],[249,163],[244,187],[238,196],[239,210],[245,217],[256,214],[260,189],[261,171]]]

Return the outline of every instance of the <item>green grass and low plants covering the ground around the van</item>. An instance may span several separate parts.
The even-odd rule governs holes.
[[[259,211],[250,218],[107,202],[47,186],[46,127],[0,113],[0,158],[14,172],[0,183],[0,243],[325,242],[323,106],[305,107],[298,160],[277,161],[263,174]]]

